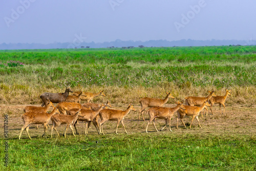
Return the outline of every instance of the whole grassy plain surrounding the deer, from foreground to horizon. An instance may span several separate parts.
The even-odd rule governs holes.
[[[2,50],[0,56],[1,116],[9,116],[9,166],[3,166],[1,153],[0,170],[256,169],[255,46]],[[6,67],[9,60],[25,66]],[[39,105],[41,93],[64,92],[64,83],[72,84],[74,91],[104,89],[106,97],[93,102],[110,100],[115,109],[125,109],[130,102],[139,109],[140,98],[163,98],[166,91],[176,98],[167,106],[186,96],[206,96],[208,90],[223,95],[227,88],[232,93],[226,115],[217,114],[216,106],[217,115],[200,117],[202,129],[194,122],[192,130],[181,123],[177,130],[172,121],[172,133],[155,133],[150,125],[146,134],[146,122],[137,121],[138,113],[132,113],[124,119],[128,135],[122,126],[115,135],[116,123],[108,122],[106,135],[91,128],[85,136],[81,123],[82,135],[76,138],[44,139],[42,127],[32,126],[32,140],[25,132],[18,140],[24,106]],[[185,123],[190,124],[190,118]],[[157,127],[163,124],[159,120]],[[5,141],[1,138],[1,144]]]

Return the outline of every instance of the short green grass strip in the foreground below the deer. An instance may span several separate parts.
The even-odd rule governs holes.
[[[9,169],[255,170],[255,140],[200,134],[13,139],[9,141]]]

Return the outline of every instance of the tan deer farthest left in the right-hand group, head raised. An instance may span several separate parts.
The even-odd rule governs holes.
[[[143,121],[145,121],[144,116],[143,116],[143,111],[147,108],[147,107],[161,107],[163,106],[165,103],[167,103],[167,101],[169,100],[169,98],[174,99],[174,96],[172,96],[170,94],[170,92],[166,92],[166,97],[162,100],[162,99],[156,99],[156,98],[149,98],[149,97],[144,97],[140,99],[140,105],[141,105],[141,110],[139,111],[139,119],[140,120],[140,114],[142,115]]]

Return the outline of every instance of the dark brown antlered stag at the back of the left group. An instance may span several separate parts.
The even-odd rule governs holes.
[[[69,92],[73,93],[73,91],[67,87],[64,93],[43,93],[40,95],[40,98],[42,99],[41,106],[46,106],[49,100],[53,103],[65,101],[69,96]]]

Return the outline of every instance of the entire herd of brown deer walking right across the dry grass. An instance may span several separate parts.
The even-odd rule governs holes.
[[[69,93],[73,93],[73,91],[70,88],[66,88],[65,93],[43,93],[40,95],[40,98],[42,100],[42,105],[41,106],[26,106],[24,108],[25,114],[23,114],[22,119],[24,121],[24,125],[22,127],[22,130],[19,135],[22,135],[22,132],[26,129],[29,138],[31,139],[29,135],[29,124],[42,124],[44,125],[44,135],[46,135],[46,130],[48,127],[48,122],[51,120],[52,121],[52,128],[51,128],[51,137],[52,137],[52,132],[53,129],[56,131],[57,135],[59,136],[59,133],[57,131],[57,127],[60,124],[66,124],[65,128],[65,138],[67,134],[68,127],[72,130],[73,135],[73,125],[75,127],[76,133],[76,124],[78,124],[78,121],[84,121],[86,122],[86,130],[85,134],[88,134],[88,129],[90,127],[91,122],[93,122],[94,126],[96,127],[96,130],[98,134],[103,134],[103,123],[108,121],[108,120],[114,120],[117,121],[117,126],[116,126],[116,134],[117,134],[117,128],[119,126],[119,123],[121,122],[125,133],[127,134],[124,124],[123,124],[123,119],[124,117],[130,113],[130,111],[136,111],[134,106],[132,104],[129,104],[128,108],[124,111],[122,110],[113,110],[113,109],[108,109],[108,107],[112,108],[111,104],[109,102],[106,102],[105,104],[96,104],[96,103],[90,103],[90,101],[96,97],[96,96],[104,96],[105,94],[103,91],[100,91],[99,93],[88,93],[88,92],[74,92],[72,95],[69,95]],[[147,122],[146,125],[146,133],[147,133],[147,127],[148,125],[153,122],[153,125],[158,132],[155,122],[156,118],[158,119],[165,119],[165,126],[160,130],[162,131],[168,124],[169,124],[169,131],[172,131],[170,129],[170,120],[173,117],[174,113],[177,112],[177,124],[176,127],[178,129],[178,121],[181,120],[183,125],[186,127],[185,123],[183,122],[183,118],[185,116],[191,116],[192,120],[190,123],[190,129],[191,129],[191,124],[193,120],[196,118],[199,126],[200,122],[198,119],[198,116],[200,112],[203,111],[203,109],[206,110],[206,116],[208,115],[208,109],[207,106],[210,107],[211,113],[212,112],[212,106],[215,103],[219,103],[220,105],[220,114],[221,114],[221,105],[224,106],[223,114],[225,112],[225,100],[230,95],[231,90],[226,90],[226,94],[224,96],[216,96],[214,91],[209,92],[209,95],[207,97],[193,97],[189,96],[185,98],[186,105],[183,105],[183,102],[177,101],[175,108],[164,108],[162,107],[169,98],[174,97],[170,94],[167,93],[166,97],[164,99],[156,99],[156,98],[148,98],[144,97],[141,98],[139,103],[141,105],[141,110],[139,111],[139,118],[140,120],[140,114],[142,115],[143,120],[143,112],[147,107],[148,109],[146,113],[150,117],[149,121]],[[80,101],[84,100],[87,101],[83,104],[80,104]],[[56,106],[53,105],[53,103],[58,103]],[[49,110],[50,106],[53,107],[53,110],[51,113],[47,113]],[[203,112],[202,112],[202,117],[203,117]],[[101,121],[99,122],[99,118]],[[37,127],[38,129],[38,127]]]

